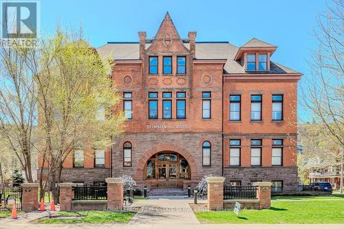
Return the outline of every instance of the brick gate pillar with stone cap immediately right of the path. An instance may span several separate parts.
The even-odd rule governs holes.
[[[208,177],[208,209],[224,207],[224,177]]]

